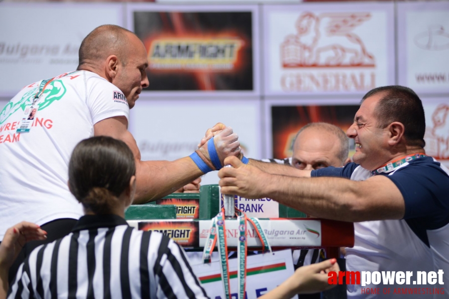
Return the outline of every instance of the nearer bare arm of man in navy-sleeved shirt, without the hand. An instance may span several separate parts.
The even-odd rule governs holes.
[[[380,194],[385,185],[337,177],[295,178],[270,175],[264,196],[319,218],[340,221],[400,219],[405,208],[399,190]],[[388,180],[388,178],[386,178]],[[388,198],[391,196],[391,200]],[[402,200],[402,195],[399,194]],[[385,204],[383,204],[385,202]]]

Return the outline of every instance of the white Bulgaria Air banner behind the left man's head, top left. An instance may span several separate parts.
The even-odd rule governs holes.
[[[76,70],[81,41],[99,25],[122,25],[122,7],[1,3],[0,95],[10,98],[25,85]]]

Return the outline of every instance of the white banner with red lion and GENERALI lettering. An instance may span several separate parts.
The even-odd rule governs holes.
[[[394,84],[393,3],[264,5],[265,94]]]

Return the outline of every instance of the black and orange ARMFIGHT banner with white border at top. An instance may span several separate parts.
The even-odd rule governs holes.
[[[257,6],[129,4],[128,19],[148,53],[145,91],[258,94]]]

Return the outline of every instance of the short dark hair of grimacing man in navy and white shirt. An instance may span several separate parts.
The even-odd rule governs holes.
[[[426,119],[421,99],[410,88],[392,85],[377,87],[370,90],[362,99],[382,94],[375,110],[379,128],[386,128],[393,122],[404,125],[404,137],[407,144],[424,148],[424,134],[426,132]]]

